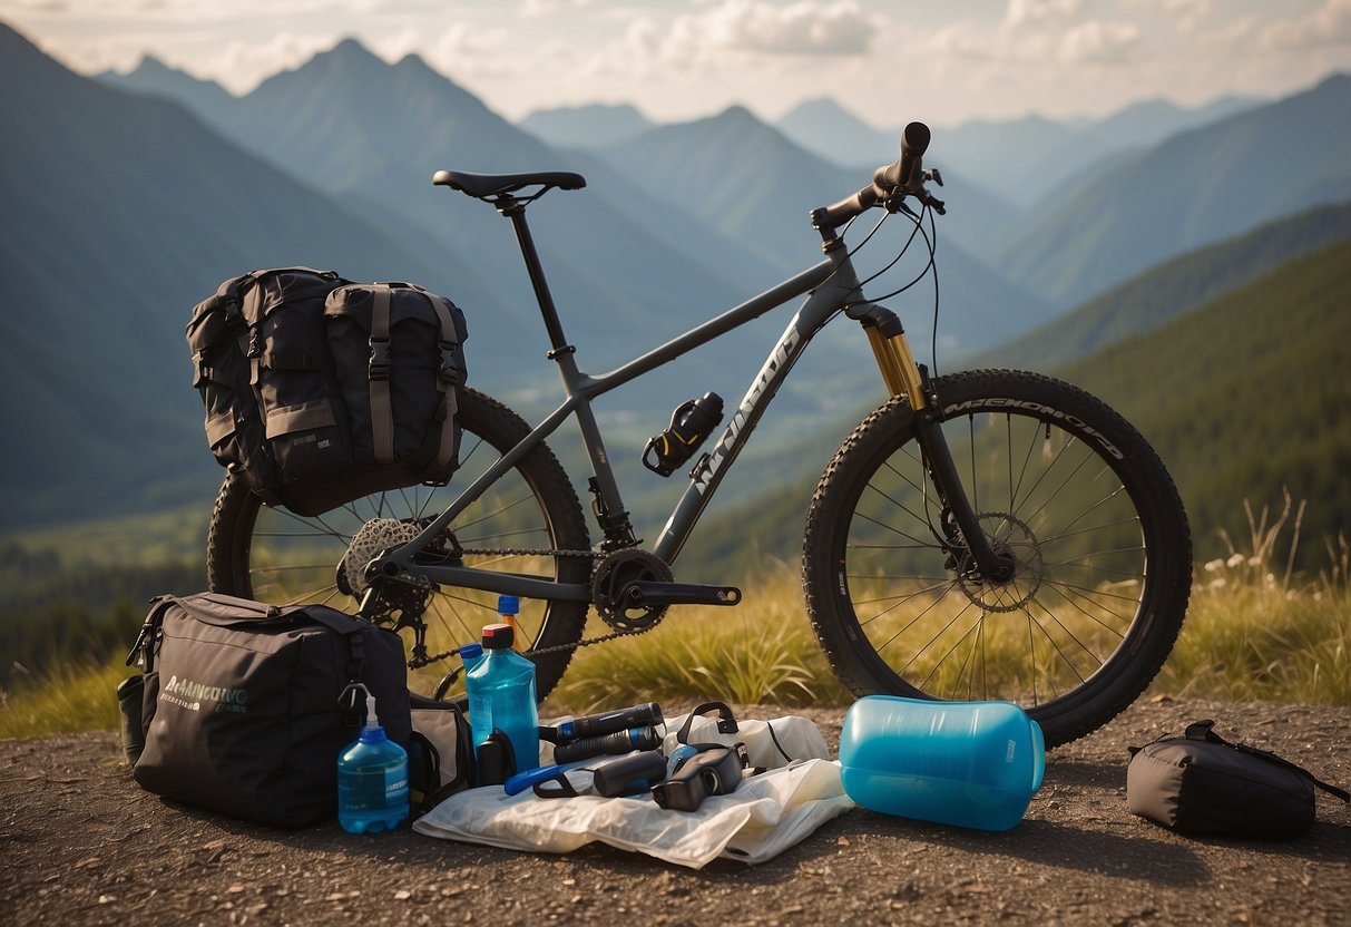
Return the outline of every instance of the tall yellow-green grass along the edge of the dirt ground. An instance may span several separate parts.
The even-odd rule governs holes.
[[[1248,538],[1197,569],[1192,604],[1151,692],[1231,701],[1351,705],[1351,545],[1324,542],[1327,566],[1293,570],[1302,505],[1279,513],[1246,507]],[[1283,553],[1282,553],[1283,551]],[[593,620],[588,634],[604,634]],[[42,678],[0,691],[0,739],[116,730],[122,658],[66,661]],[[546,713],[639,701],[846,705],[811,632],[797,576],[750,584],[736,608],[674,608],[653,631],[573,658]]]

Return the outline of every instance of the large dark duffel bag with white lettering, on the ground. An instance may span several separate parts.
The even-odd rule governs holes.
[[[326,605],[165,596],[138,654],[142,676],[119,700],[135,709],[139,678],[141,718],[123,731],[143,735],[136,782],[168,799],[282,827],[335,816],[338,754],[365,712],[346,692],[354,682],[376,696],[389,738],[409,745],[403,641]],[[136,745],[124,746],[131,759]]]

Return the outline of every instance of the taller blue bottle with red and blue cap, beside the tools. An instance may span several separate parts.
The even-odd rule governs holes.
[[[474,747],[493,731],[511,741],[515,772],[539,766],[539,713],[535,708],[535,663],[512,650],[516,635],[509,624],[484,628],[484,659],[465,677],[469,689],[469,727]]]

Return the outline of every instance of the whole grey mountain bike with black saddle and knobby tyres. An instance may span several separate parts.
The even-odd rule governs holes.
[[[671,605],[742,600],[732,585],[680,582],[674,566],[797,359],[827,323],[847,318],[863,330],[886,397],[825,466],[807,511],[802,588],[835,673],[858,695],[1015,701],[1048,745],[1096,730],[1144,691],[1177,638],[1192,581],[1186,515],[1159,457],[1105,403],[1034,373],[931,376],[896,312],[865,296],[871,278],[859,280],[859,246],[844,236],[871,209],[881,209],[878,224],[912,222],[905,247],[919,232],[932,270],[944,204],[928,188],[942,176],[923,166],[929,138],[911,123],[894,164],[811,214],[823,246],[815,266],[604,374],[580,369],[526,222],[540,196],[585,180],[438,172],[434,184],[512,223],[561,404],[530,426],[462,389],[461,466],[449,486],[411,485],[317,518],[269,508],[227,473],[208,535],[211,588],[324,601],[403,630],[415,680],[442,676],[455,646],[496,620],[499,595],[519,596],[517,639],[543,699],[577,647],[642,634]],[[794,303],[665,527],[642,546],[592,401]],[[546,443],[569,419],[590,464],[594,543],[574,488],[584,484]],[[666,436],[663,449],[685,462],[703,438],[676,427]],[[605,627],[586,638],[592,609]]]

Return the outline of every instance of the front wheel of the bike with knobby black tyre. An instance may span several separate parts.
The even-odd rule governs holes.
[[[812,627],[857,695],[1006,700],[1048,746],[1129,705],[1167,658],[1192,585],[1182,500],[1104,403],[1031,373],[939,377],[939,416],[971,507],[1013,577],[981,576],[928,476],[915,415],[865,419],[812,499]]]

